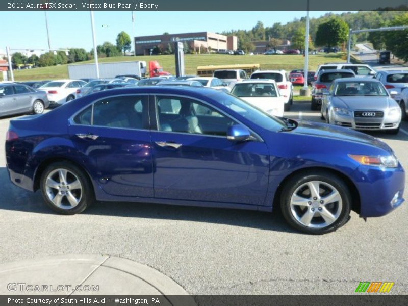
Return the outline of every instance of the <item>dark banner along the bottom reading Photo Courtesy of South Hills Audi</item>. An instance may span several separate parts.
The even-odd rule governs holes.
[[[196,296],[0,296],[2,306],[399,306],[407,305],[408,296],[355,294],[347,296],[264,296],[264,295],[196,295]]]

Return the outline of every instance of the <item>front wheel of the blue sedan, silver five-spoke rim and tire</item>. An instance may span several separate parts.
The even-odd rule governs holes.
[[[301,173],[284,186],[282,213],[288,223],[308,234],[337,230],[349,219],[351,196],[347,185],[325,171]]]

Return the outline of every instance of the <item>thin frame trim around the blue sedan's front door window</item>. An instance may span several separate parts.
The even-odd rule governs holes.
[[[242,122],[241,122],[240,120],[238,120],[237,118],[235,118],[235,117],[233,117],[232,115],[230,115],[230,114],[224,112],[223,110],[219,109],[217,106],[212,105],[212,104],[210,104],[210,103],[208,103],[208,102],[206,102],[206,101],[204,101],[204,100],[198,99],[198,98],[196,98],[196,97],[192,98],[192,97],[190,97],[190,96],[185,96],[185,95],[180,95],[180,94],[165,94],[165,93],[158,93],[158,94],[156,94],[156,93],[152,93],[151,96],[152,96],[152,100],[151,100],[152,107],[151,107],[151,110],[152,110],[152,111],[154,110],[154,117],[155,117],[155,118],[153,118],[153,114],[151,114],[151,116],[149,116],[149,119],[150,119],[150,120],[151,120],[151,119],[156,120],[156,122],[155,122],[154,124],[150,124],[150,127],[153,126],[153,125],[156,127],[156,130],[152,130],[152,129],[151,129],[151,130],[150,130],[151,132],[162,132],[162,133],[172,133],[172,134],[182,134],[182,135],[195,135],[195,136],[205,136],[205,137],[217,137],[217,138],[227,139],[227,136],[218,136],[218,135],[207,135],[207,134],[195,134],[195,133],[186,133],[186,132],[173,132],[173,131],[160,131],[160,130],[157,130],[157,129],[158,129],[158,126],[159,126],[159,113],[158,113],[158,111],[157,111],[157,100],[156,100],[156,97],[157,97],[157,96],[173,96],[173,97],[187,98],[187,99],[199,101],[200,103],[202,103],[202,104],[204,104],[204,105],[206,105],[206,106],[209,106],[209,107],[215,109],[216,111],[218,111],[218,112],[221,113],[222,115],[224,115],[224,116],[226,116],[226,117],[228,117],[228,118],[234,120],[235,122],[238,122],[238,124],[241,124],[241,125],[245,126],[245,127],[249,130],[249,132],[251,133],[251,135],[252,135],[254,138],[257,139],[257,141],[259,141],[259,142],[265,142],[265,141],[262,139],[262,137],[259,136],[258,133],[254,132],[254,131],[253,131],[250,127],[248,127],[246,124],[242,123]]]

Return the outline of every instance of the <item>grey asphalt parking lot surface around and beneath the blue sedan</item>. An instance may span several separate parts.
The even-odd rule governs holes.
[[[294,103],[286,115],[320,121],[310,103]],[[11,118],[0,119],[1,143]],[[407,121],[398,135],[371,135],[408,169]],[[109,254],[156,268],[194,295],[354,294],[362,281],[394,282],[390,294],[408,289],[406,203],[367,223],[352,212],[339,231],[309,236],[292,230],[279,212],[95,203],[80,215],[58,215],[39,192],[10,183],[4,149],[0,183],[0,263]]]

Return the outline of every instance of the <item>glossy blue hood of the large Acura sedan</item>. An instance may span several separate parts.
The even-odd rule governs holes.
[[[362,143],[372,145],[384,149],[392,153],[391,148],[385,143],[373,136],[347,129],[346,127],[336,126],[332,124],[311,122],[311,121],[297,121],[298,127],[289,133],[296,135],[314,136],[321,138],[336,139],[340,141]],[[288,133],[288,132],[284,132]]]

